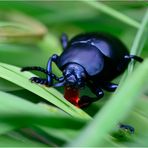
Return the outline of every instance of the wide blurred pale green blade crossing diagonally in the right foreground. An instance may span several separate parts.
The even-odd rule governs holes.
[[[103,138],[128,114],[148,83],[148,59],[125,80],[119,91],[106,103],[95,119],[68,146],[99,146]]]

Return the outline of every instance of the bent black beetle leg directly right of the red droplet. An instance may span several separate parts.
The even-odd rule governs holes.
[[[80,98],[80,101],[78,102],[79,106],[82,108],[90,105],[95,101],[98,101],[104,95],[102,89],[99,87],[96,87],[94,84],[88,83],[88,87],[97,97],[82,96]]]

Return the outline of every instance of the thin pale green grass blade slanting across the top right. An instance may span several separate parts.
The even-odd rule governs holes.
[[[114,18],[116,18],[116,19],[122,21],[123,23],[126,23],[132,27],[135,27],[135,28],[140,27],[139,22],[136,22],[132,18],[120,13],[119,11],[114,10],[113,8],[103,4],[101,2],[98,2],[96,0],[93,0],[93,1],[83,0],[83,2],[89,4],[90,6],[96,8],[96,9],[110,15],[111,17],[114,17]]]

